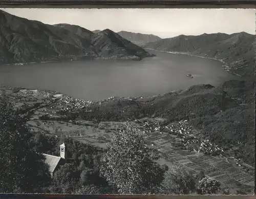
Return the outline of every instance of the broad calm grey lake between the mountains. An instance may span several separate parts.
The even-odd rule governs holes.
[[[222,63],[188,55],[150,51],[141,61],[84,60],[27,65],[2,65],[2,84],[57,91],[84,100],[111,96],[139,97],[187,89],[195,84],[218,85],[238,79]],[[192,74],[194,78],[186,77]]]

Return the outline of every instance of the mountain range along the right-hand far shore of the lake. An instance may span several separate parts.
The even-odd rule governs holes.
[[[234,34],[179,35],[148,42],[143,47],[168,52],[179,52],[222,60],[226,70],[254,82],[255,35],[245,32]]]

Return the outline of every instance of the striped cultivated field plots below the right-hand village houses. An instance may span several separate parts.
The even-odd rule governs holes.
[[[240,184],[247,185],[253,190],[254,176],[242,170],[241,167],[232,164],[231,160],[225,157],[206,156],[203,153],[189,150],[179,150],[171,144],[167,145],[162,139],[163,134],[159,137],[152,138],[155,147],[162,153],[166,153],[169,162],[178,162],[182,164],[187,171],[192,174],[203,170],[210,178],[221,182],[223,188],[236,188]],[[166,138],[165,138],[166,139]],[[169,139],[172,140],[172,137]]]

